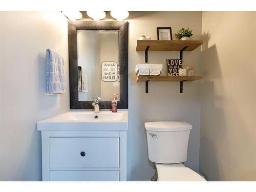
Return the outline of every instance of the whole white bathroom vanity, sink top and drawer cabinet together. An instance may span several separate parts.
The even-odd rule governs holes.
[[[37,130],[42,181],[126,181],[127,111],[68,112]]]

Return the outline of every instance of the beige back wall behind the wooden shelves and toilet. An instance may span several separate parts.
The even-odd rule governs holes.
[[[172,27],[174,34],[181,27],[190,27],[191,39],[201,39],[202,12],[130,12],[129,22],[129,130],[127,132],[127,179],[150,180],[154,174],[153,164],[147,157],[144,123],[148,121],[186,121],[193,125],[188,144],[188,159],[185,165],[198,171],[200,132],[200,81],[136,82],[136,63],[144,63],[144,52],[136,51],[141,34],[157,39],[157,27]],[[148,52],[149,63],[163,63],[162,75],[167,74],[166,59],[179,58],[179,52]],[[201,75],[201,49],[184,52],[184,66],[196,66]]]

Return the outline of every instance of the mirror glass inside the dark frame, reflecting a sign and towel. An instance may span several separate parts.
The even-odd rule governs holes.
[[[77,30],[79,101],[120,98],[118,30]]]

